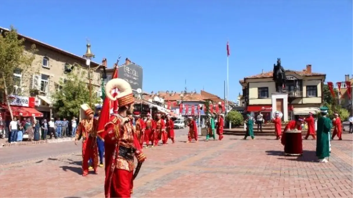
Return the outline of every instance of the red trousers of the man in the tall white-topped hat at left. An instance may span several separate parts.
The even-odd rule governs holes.
[[[92,165],[95,172],[97,172],[98,167],[98,148],[97,142],[93,144],[93,137],[88,137],[86,140],[82,141],[82,170],[83,174],[88,173],[88,161],[92,159]]]

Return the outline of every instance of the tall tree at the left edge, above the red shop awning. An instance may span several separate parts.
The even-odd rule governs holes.
[[[12,110],[8,96],[14,90],[22,90],[20,80],[14,73],[28,74],[32,69],[32,62],[35,58],[36,46],[32,45],[30,49],[26,49],[24,38],[19,38],[17,30],[12,26],[9,31],[0,33],[0,102],[7,103],[8,110],[13,118]],[[25,75],[23,75],[25,77]],[[24,79],[21,79],[24,81]],[[18,92],[16,94],[22,94]],[[5,96],[5,97],[3,97]]]

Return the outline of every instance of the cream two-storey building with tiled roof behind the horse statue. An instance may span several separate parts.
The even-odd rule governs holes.
[[[303,71],[286,70],[285,93],[276,93],[272,75],[272,71],[263,72],[240,80],[247,112],[254,115],[261,111],[272,118],[275,111],[281,111],[283,120],[288,120],[318,111],[323,102],[325,74],[312,72],[311,65]]]

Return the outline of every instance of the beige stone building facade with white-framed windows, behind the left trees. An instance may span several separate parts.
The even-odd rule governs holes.
[[[0,27],[2,31],[8,29]],[[74,55],[65,50],[53,47],[52,45],[40,42],[34,38],[18,34],[19,38],[24,38],[25,50],[31,48],[32,44],[36,45],[37,52],[32,62],[32,67],[23,73],[20,70],[14,72],[14,78],[17,79],[18,85],[14,90],[14,98],[29,99],[35,98],[35,109],[43,113],[44,118],[53,116],[53,101],[51,95],[59,91],[61,82],[65,82],[67,71],[74,63],[81,66],[80,69],[74,69],[77,75],[83,74],[83,79],[89,84],[88,66],[86,60],[82,56]],[[83,48],[83,51],[85,48]],[[92,94],[97,94],[100,87],[101,73],[100,64],[91,61]]]

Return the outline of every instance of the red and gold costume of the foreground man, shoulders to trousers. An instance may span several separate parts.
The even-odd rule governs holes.
[[[140,143],[131,122],[120,124],[121,119],[113,116],[104,129],[104,149],[106,160],[106,179],[104,192],[106,198],[130,198],[133,188],[133,160],[119,155],[119,148],[136,149],[135,157],[143,161]]]

